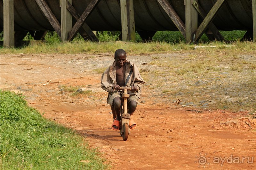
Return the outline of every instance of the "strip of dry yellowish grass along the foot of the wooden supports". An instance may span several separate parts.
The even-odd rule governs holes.
[[[246,51],[252,52],[256,50],[256,43],[253,42],[241,42],[236,41],[230,45],[233,47],[225,47],[227,45],[223,42],[210,42],[198,45],[216,45],[219,50],[229,49],[230,51]],[[43,43],[41,45],[27,46],[23,48],[2,48],[1,54],[35,54],[35,53],[45,53],[45,54],[93,54],[93,53],[106,53],[113,52],[116,49],[122,48],[129,54],[148,54],[148,53],[163,53],[172,52],[178,50],[191,50],[194,49],[195,45],[180,42],[179,44],[170,44],[166,42],[149,42],[149,43],[131,43],[131,42],[90,42],[90,41],[73,41],[67,43],[53,43],[47,44]],[[201,50],[201,49],[200,49]],[[216,48],[206,47],[204,50],[211,53],[211,51],[216,51]],[[212,53],[213,54],[213,53]],[[192,56],[193,57],[193,56]],[[234,56],[236,57],[236,56]]]

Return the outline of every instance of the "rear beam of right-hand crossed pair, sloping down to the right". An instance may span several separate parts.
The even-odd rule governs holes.
[[[198,14],[201,16],[202,19],[204,19],[206,17],[206,12],[204,11],[204,9],[202,8],[201,5],[198,4],[197,1],[193,1],[193,6],[195,7],[196,11],[198,12]],[[221,33],[219,32],[219,30],[217,29],[217,27],[213,24],[210,23],[209,24],[209,29],[212,31],[212,34],[214,36],[214,39],[222,41],[224,40],[224,37],[221,35]],[[206,34],[207,35],[207,34]],[[207,35],[208,36],[208,35]]]

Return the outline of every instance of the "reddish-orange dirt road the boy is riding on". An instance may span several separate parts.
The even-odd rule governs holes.
[[[143,58],[138,66],[150,60],[131,58]],[[132,116],[138,127],[123,141],[111,129],[107,92],[93,71],[111,62],[109,54],[1,55],[1,89],[24,93],[30,106],[75,129],[115,169],[256,169],[256,121],[247,111],[176,107],[149,85]],[[92,92],[60,91],[75,86]]]

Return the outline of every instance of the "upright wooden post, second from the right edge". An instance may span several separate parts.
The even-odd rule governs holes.
[[[185,16],[186,16],[186,40],[187,42],[194,41],[197,29],[197,11],[193,6],[193,0],[185,1]]]

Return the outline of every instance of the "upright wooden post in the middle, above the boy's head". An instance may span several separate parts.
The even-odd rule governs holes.
[[[135,41],[135,24],[133,0],[120,0],[122,39],[123,41]]]

